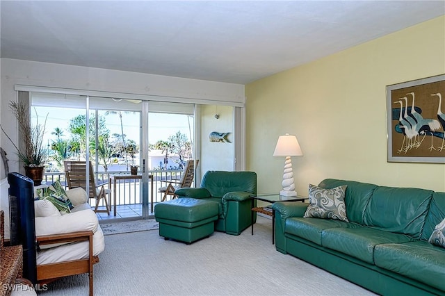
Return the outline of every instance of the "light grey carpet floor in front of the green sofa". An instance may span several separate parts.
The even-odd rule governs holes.
[[[95,295],[374,295],[272,245],[272,223],[258,217],[240,236],[216,232],[191,245],[159,231],[105,237],[94,267]],[[39,295],[88,295],[88,275],[49,283]]]

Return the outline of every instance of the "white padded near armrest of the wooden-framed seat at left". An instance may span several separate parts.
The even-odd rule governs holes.
[[[60,216],[35,217],[35,236],[51,236],[60,233],[92,231],[99,227],[96,213],[92,210],[79,211]]]

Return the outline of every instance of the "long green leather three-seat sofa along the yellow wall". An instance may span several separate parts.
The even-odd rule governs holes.
[[[343,185],[349,222],[305,218],[299,202],[273,204],[277,251],[381,295],[445,295],[445,249],[428,242],[445,193],[336,179],[318,186]]]

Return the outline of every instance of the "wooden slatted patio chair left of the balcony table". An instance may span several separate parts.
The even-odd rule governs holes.
[[[65,166],[65,176],[67,178],[68,189],[81,187],[86,190],[86,161],[64,161],[63,165]],[[90,192],[88,196],[96,199],[95,213],[107,213],[110,215],[111,206],[108,206],[106,195],[109,195],[111,190],[105,188],[104,184],[99,186],[96,185],[95,174],[92,171],[91,162],[89,186]],[[101,199],[104,199],[105,210],[98,209]]]

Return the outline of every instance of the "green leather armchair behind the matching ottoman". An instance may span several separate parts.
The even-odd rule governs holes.
[[[208,171],[200,188],[179,188],[175,195],[218,203],[215,230],[238,236],[251,224],[250,195],[257,194],[255,172]],[[255,216],[256,218],[256,216]]]

